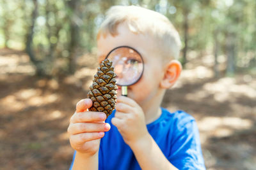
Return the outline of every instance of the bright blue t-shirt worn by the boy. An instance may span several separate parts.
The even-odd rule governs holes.
[[[195,119],[184,111],[170,113],[161,109],[161,116],[148,124],[147,129],[165,157],[178,169],[205,169]],[[110,131],[100,140],[99,169],[141,169],[131,148],[111,124],[113,117],[115,111],[106,119],[111,125]],[[76,152],[70,169],[75,157]]]

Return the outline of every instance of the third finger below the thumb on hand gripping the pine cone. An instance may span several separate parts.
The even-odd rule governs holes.
[[[86,141],[100,139],[104,136],[104,132],[86,132],[81,134],[72,134],[70,136],[70,143],[82,144]]]

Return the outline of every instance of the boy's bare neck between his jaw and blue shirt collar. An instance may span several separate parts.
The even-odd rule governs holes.
[[[163,100],[164,91],[160,91],[156,94],[156,96],[151,97],[147,102],[141,104],[141,108],[145,113],[145,121],[146,124],[150,124],[154,122],[161,116],[161,102]]]

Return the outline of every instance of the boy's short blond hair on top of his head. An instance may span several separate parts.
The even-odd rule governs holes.
[[[117,26],[126,23],[134,34],[149,34],[156,40],[159,50],[167,57],[177,59],[180,52],[179,33],[164,15],[140,6],[112,6],[97,35],[106,38],[107,34],[116,36]]]

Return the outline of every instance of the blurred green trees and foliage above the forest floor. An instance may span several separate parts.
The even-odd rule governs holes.
[[[74,73],[77,57],[94,51],[104,13],[116,4],[170,18],[182,38],[184,64],[193,50],[198,57],[209,51],[227,56],[228,75],[255,67],[255,0],[0,0],[0,48],[26,50],[43,76]]]

